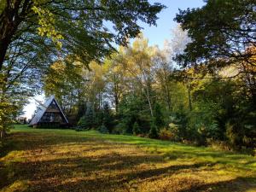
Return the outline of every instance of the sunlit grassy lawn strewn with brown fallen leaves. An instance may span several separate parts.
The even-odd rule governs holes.
[[[16,126],[0,191],[256,191],[256,158],[96,131]]]

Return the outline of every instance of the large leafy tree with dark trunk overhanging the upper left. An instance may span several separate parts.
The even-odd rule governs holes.
[[[137,36],[141,29],[137,20],[155,25],[156,14],[163,8],[143,0],[1,1],[1,97],[8,98],[10,85],[20,79],[26,87],[37,79],[33,85],[40,86],[45,69],[67,56],[85,66],[102,61],[113,52],[113,43],[125,45],[127,38]]]

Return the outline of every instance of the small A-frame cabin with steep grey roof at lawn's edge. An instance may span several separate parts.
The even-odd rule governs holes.
[[[68,120],[65,114],[62,112],[60,105],[55,100],[55,96],[50,96],[44,104],[38,108],[38,112],[35,113],[29,125],[34,127],[50,126],[60,127],[66,126]]]

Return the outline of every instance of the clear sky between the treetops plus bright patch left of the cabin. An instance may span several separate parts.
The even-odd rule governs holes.
[[[171,39],[171,30],[177,26],[177,23],[173,20],[178,13],[178,9],[199,8],[204,5],[203,0],[149,0],[150,3],[162,3],[166,5],[159,15],[157,20],[157,26],[148,26],[144,23],[140,23],[143,26],[143,34],[148,38],[150,45],[158,45],[163,47],[165,40]],[[44,96],[35,96],[39,101],[44,101]],[[30,103],[24,108],[26,118],[30,119],[37,106],[37,102],[34,98],[30,100]]]

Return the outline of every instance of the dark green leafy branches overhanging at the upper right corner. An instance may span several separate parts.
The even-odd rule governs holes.
[[[192,41],[176,61],[183,67],[207,65],[211,73],[236,65],[240,70],[235,76],[245,74],[246,81],[252,80],[255,71],[247,68],[256,67],[255,51],[250,51],[256,46],[255,6],[253,0],[207,0],[200,9],[180,10],[175,20]],[[256,106],[255,87],[249,89]]]

